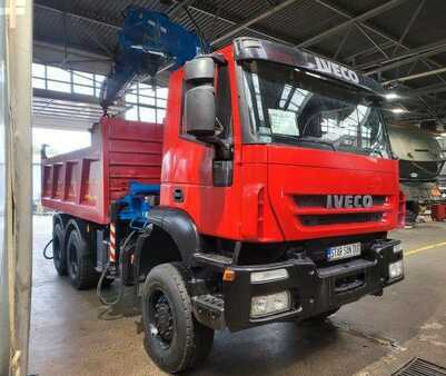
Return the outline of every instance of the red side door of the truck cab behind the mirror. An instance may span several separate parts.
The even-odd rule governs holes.
[[[220,147],[198,140],[186,132],[182,82],[182,109],[178,136],[169,133],[168,130],[165,142],[167,147],[165,146],[162,165],[161,205],[187,211],[201,232],[228,236],[236,231],[234,210],[235,207],[238,208],[238,205],[234,205],[236,199],[231,156],[234,132],[228,65],[217,67],[215,89],[217,110],[215,127],[216,135],[221,141]],[[171,127],[169,119],[166,126]],[[176,142],[169,138],[176,138]],[[226,152],[221,151],[224,145],[227,146]],[[232,205],[229,205],[229,201],[232,201]]]

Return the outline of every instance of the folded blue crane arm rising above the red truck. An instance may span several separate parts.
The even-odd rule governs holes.
[[[175,70],[206,50],[202,38],[170,21],[167,14],[129,7],[112,68],[101,87],[103,111],[122,97],[131,82]]]

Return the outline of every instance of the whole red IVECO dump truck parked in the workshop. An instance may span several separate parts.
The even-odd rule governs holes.
[[[214,332],[324,319],[403,280],[404,218],[380,87],[236,39],[170,76],[165,123],[102,118],[44,159],[54,266],[76,288],[141,284],[146,347],[197,366]]]

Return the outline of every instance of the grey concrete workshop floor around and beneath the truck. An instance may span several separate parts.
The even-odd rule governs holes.
[[[165,375],[143,350],[139,306],[127,296],[108,309],[96,291],[72,289],[41,256],[50,234],[51,218],[36,217],[29,373]],[[446,224],[393,237],[409,251],[404,283],[343,307],[321,326],[218,333],[194,375],[389,375],[414,356],[446,367]]]

